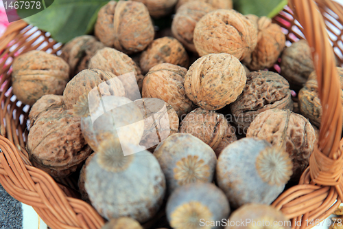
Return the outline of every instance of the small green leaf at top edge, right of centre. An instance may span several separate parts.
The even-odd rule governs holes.
[[[241,14],[272,18],[287,5],[287,0],[234,0],[233,3],[235,10]]]

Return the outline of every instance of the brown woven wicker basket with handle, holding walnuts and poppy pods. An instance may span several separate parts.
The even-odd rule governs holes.
[[[322,221],[343,199],[341,88],[332,49],[342,64],[342,20],[342,6],[330,0],[291,0],[289,7],[274,18],[284,28],[287,42],[306,38],[313,48],[323,107],[320,137],[309,168],[300,184],[286,190],[272,204],[292,219],[293,228],[311,228],[312,219]],[[91,205],[78,199],[72,188],[56,182],[29,162],[25,151],[29,107],[16,100],[11,90],[10,67],[15,56],[29,50],[56,54],[60,47],[49,33],[23,21],[12,23],[0,39],[0,182],[10,195],[32,206],[53,229],[99,229],[105,221]],[[276,65],[275,69],[279,67]],[[152,224],[144,227],[151,228]]]

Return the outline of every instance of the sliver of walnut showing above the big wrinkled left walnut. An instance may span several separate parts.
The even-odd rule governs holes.
[[[64,109],[63,96],[45,95],[40,97],[29,110],[29,119],[34,122],[40,113],[47,111],[51,107]]]

